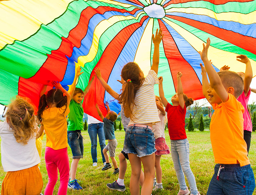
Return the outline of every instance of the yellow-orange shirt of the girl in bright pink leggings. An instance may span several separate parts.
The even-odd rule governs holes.
[[[42,121],[46,134],[46,146],[59,150],[67,148],[67,114],[70,112],[65,106],[61,108],[46,108],[42,113]]]

